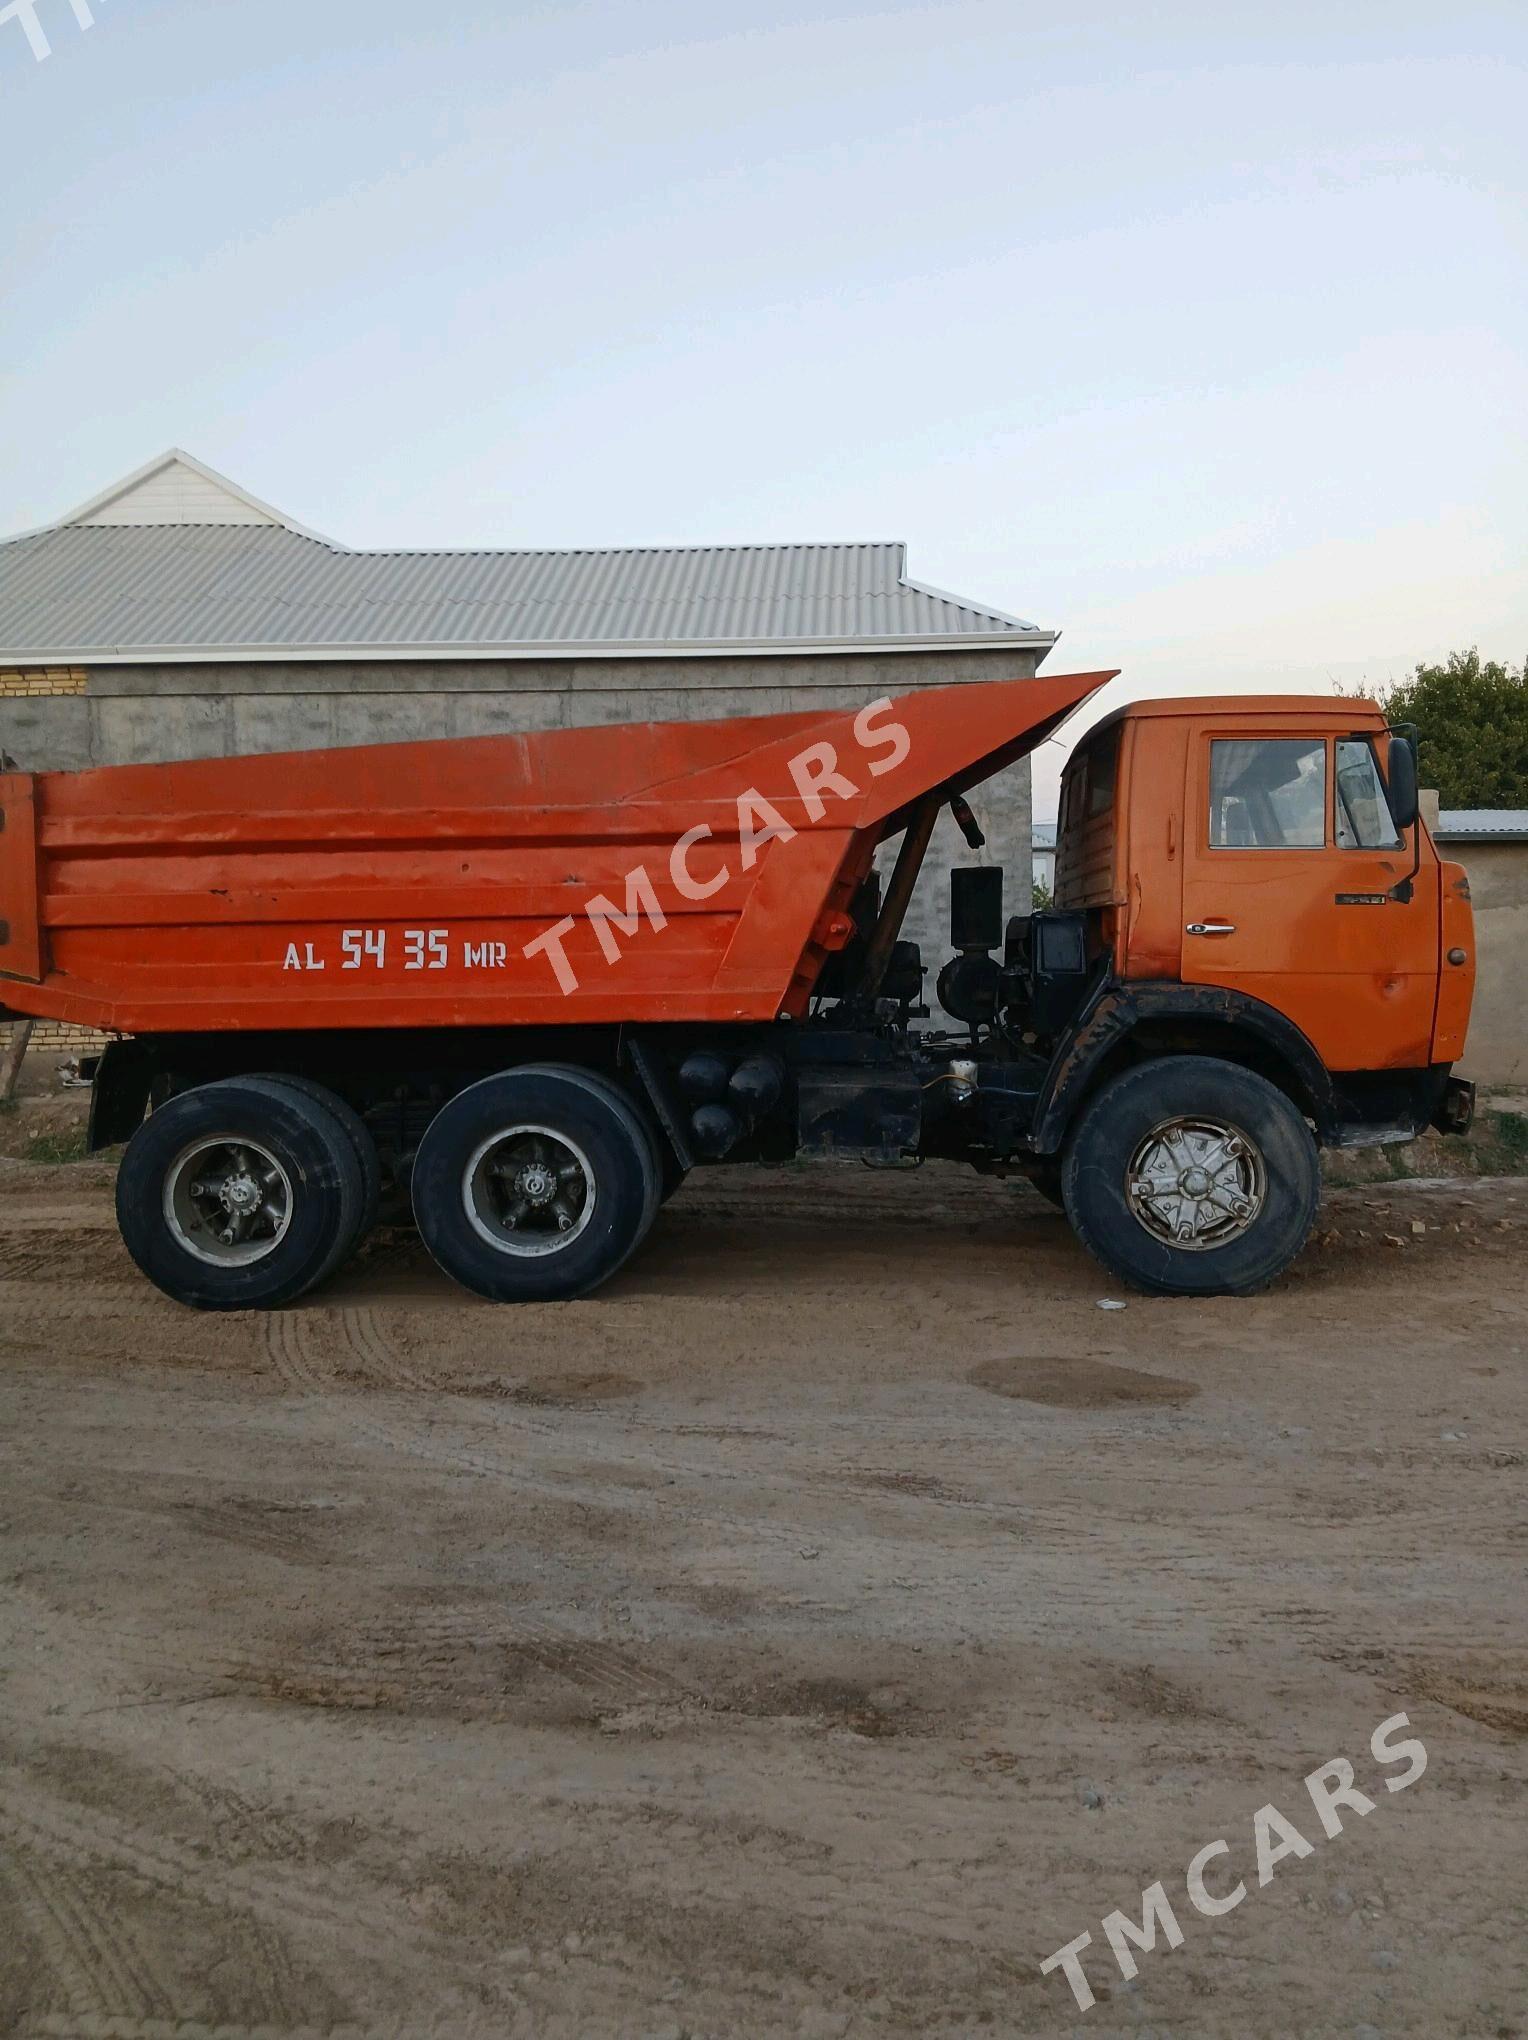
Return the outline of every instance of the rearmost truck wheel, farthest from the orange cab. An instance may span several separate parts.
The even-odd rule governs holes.
[[[228,1077],[167,1100],[116,1173],[126,1251],[194,1310],[296,1302],[355,1238],[363,1204],[341,1120],[277,1077]]]

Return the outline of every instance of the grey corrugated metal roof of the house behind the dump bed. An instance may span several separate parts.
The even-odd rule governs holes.
[[[0,659],[463,657],[1051,645],[906,577],[902,545],[351,553],[263,526],[61,526],[0,545]]]

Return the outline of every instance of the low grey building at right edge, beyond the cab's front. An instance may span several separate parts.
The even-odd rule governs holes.
[[[1475,1010],[1465,1075],[1528,1085],[1528,808],[1444,808],[1432,834],[1469,873]]]

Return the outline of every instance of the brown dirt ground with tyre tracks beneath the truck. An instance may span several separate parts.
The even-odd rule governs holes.
[[[1526,1222],[1336,1189],[1185,1304],[1022,1187],[734,1171],[588,1304],[384,1236],[212,1320],[0,1161],[0,2032],[1518,2034]]]

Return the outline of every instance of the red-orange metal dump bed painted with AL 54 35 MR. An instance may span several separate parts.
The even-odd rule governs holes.
[[[877,845],[1110,677],[4,775],[0,1006],[129,1034],[798,1016]]]

